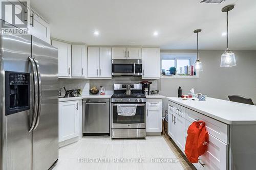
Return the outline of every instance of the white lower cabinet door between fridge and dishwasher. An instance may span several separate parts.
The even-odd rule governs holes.
[[[59,102],[59,142],[79,137],[79,101]]]

